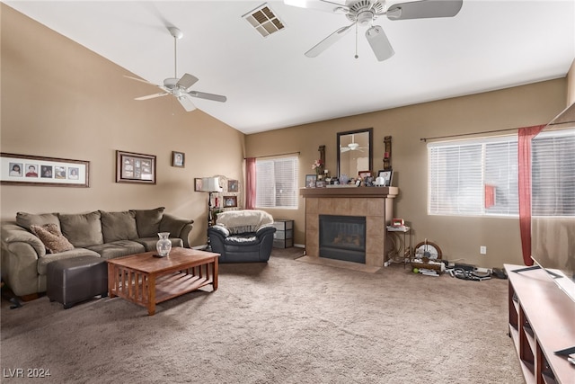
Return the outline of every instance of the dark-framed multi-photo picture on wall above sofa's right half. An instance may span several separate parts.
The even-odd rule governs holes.
[[[155,184],[155,156],[117,150],[116,183]]]

